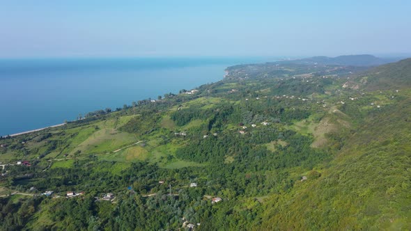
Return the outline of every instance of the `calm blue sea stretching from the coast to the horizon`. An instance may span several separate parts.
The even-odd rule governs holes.
[[[223,79],[229,65],[268,58],[0,60],[0,135],[75,120]]]

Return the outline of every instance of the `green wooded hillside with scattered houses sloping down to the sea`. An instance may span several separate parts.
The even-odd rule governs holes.
[[[409,230],[411,59],[346,58],[1,138],[0,230]]]

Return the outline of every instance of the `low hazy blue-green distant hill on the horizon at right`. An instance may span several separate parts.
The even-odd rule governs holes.
[[[385,63],[398,61],[398,58],[378,58],[369,54],[348,55],[348,56],[315,56],[302,58],[293,61],[281,61],[281,63],[297,63],[306,65],[352,65],[352,66],[376,66]]]

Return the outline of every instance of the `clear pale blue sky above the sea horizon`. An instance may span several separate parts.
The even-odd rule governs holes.
[[[6,1],[0,58],[411,54],[411,1]]]

